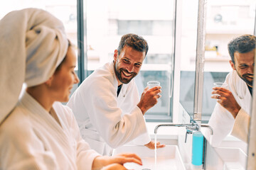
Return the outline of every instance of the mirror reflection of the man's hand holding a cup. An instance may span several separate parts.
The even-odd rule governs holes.
[[[223,108],[227,109],[234,118],[238,115],[241,107],[238,102],[235,101],[235,97],[228,89],[222,87],[213,87],[212,94],[218,94],[220,96],[211,96],[211,98],[217,99],[217,102],[220,103]]]

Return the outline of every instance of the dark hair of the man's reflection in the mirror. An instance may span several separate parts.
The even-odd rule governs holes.
[[[234,53],[246,53],[255,49],[256,37],[255,35],[241,35],[228,43],[228,53],[230,54],[232,62],[235,64]]]

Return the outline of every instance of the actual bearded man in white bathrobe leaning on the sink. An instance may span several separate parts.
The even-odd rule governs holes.
[[[161,95],[161,86],[144,89],[139,99],[134,77],[139,73],[149,47],[134,34],[123,35],[113,62],[90,74],[71,96],[68,106],[78,120],[80,133],[92,149],[111,154],[112,148],[134,140],[154,149],[144,114]],[[164,147],[157,143],[157,148]]]

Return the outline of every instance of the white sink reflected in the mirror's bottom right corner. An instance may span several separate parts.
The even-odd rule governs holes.
[[[247,155],[240,148],[218,147],[215,148],[220,159],[223,161],[224,169],[244,170],[246,169]]]

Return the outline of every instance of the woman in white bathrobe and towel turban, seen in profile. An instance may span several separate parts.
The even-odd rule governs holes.
[[[0,32],[0,169],[110,170],[125,169],[125,162],[142,164],[135,154],[102,157],[90,149],[72,111],[60,103],[68,101],[79,79],[75,50],[57,18],[36,8],[13,11],[0,21]],[[18,99],[23,82],[27,88]]]

